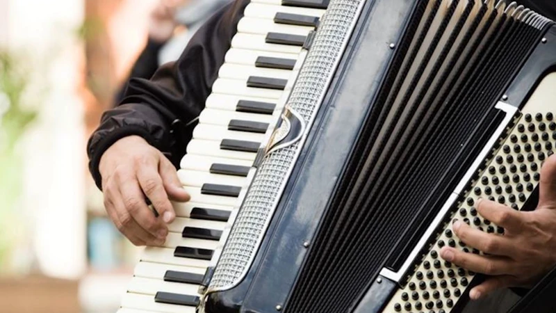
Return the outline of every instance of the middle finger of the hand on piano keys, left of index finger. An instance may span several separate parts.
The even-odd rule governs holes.
[[[136,220],[140,228],[153,236],[165,237],[167,235],[166,225],[161,220],[158,220],[149,207],[147,207],[139,183],[135,179],[129,179],[121,184],[120,194],[122,195],[124,211]]]

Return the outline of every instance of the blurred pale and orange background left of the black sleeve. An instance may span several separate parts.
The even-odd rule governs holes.
[[[0,312],[115,312],[139,248],[107,218],[85,145],[229,0],[0,0]]]

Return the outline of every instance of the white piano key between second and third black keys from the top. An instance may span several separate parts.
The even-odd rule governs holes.
[[[257,33],[266,35],[268,33],[287,33],[291,35],[309,35],[315,28],[312,26],[296,26],[288,24],[276,24],[272,19],[259,19],[254,17],[243,17],[238,23],[238,32]]]

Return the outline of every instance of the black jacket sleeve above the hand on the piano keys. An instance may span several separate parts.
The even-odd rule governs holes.
[[[88,141],[89,169],[99,188],[101,156],[124,136],[142,136],[175,166],[179,164],[247,3],[237,0],[215,13],[178,61],[163,65],[152,79],[129,81],[120,105],[102,115]]]

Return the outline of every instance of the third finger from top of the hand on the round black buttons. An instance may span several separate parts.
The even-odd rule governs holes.
[[[440,256],[448,262],[468,271],[486,275],[505,275],[512,273],[512,259],[466,253],[451,247],[444,247]]]

